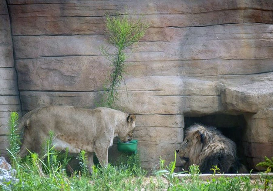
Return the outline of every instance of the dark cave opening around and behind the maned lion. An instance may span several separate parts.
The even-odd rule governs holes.
[[[201,117],[185,117],[184,120],[184,132],[194,123],[200,123],[205,126],[214,126],[219,129],[224,136],[236,143],[237,156],[240,158],[240,162],[246,165],[245,146],[243,141],[246,133],[246,121],[243,115],[207,115]]]

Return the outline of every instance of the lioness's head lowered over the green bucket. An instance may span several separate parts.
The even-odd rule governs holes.
[[[118,136],[121,141],[126,142],[126,141],[132,140],[133,130],[136,127],[136,116],[129,115],[125,123],[126,123],[125,127],[123,127],[122,131],[120,132]]]

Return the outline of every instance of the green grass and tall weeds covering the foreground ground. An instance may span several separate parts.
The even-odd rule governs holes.
[[[18,119],[11,117],[12,120]],[[11,124],[10,128],[13,128],[11,133],[17,133],[15,123],[9,124]],[[13,137],[12,141],[17,142],[16,135],[11,137]],[[11,145],[8,151],[11,155],[12,167],[17,171],[15,178],[19,181],[15,184],[6,183],[6,186],[0,186],[0,190],[272,190],[272,176],[261,176],[261,179],[256,180],[251,180],[250,176],[216,178],[215,173],[219,171],[217,166],[213,167],[215,173],[209,180],[204,181],[198,176],[200,171],[199,166],[196,165],[190,166],[189,177],[180,178],[174,173],[176,158],[166,166],[161,159],[160,171],[155,175],[148,175],[147,171],[140,167],[138,154],[123,155],[116,165],[93,166],[93,173],[89,174],[86,168],[85,152],[82,151],[79,153],[81,171],[75,171],[69,176],[65,168],[69,161],[67,152],[64,154],[56,152],[52,145],[52,137],[53,134],[50,133],[45,144],[43,160],[32,152],[20,159],[17,156],[18,145]],[[267,180],[266,185],[265,180]]]

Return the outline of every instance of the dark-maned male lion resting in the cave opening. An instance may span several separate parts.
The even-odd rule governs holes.
[[[217,165],[221,173],[247,172],[236,155],[236,144],[215,127],[190,126],[177,155],[184,162],[185,169],[196,164],[201,173],[212,173],[213,165]]]

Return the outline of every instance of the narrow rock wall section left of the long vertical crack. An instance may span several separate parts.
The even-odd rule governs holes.
[[[11,111],[20,112],[20,100],[8,8],[6,2],[0,0],[0,156],[6,156],[7,152],[8,129],[6,127]]]

